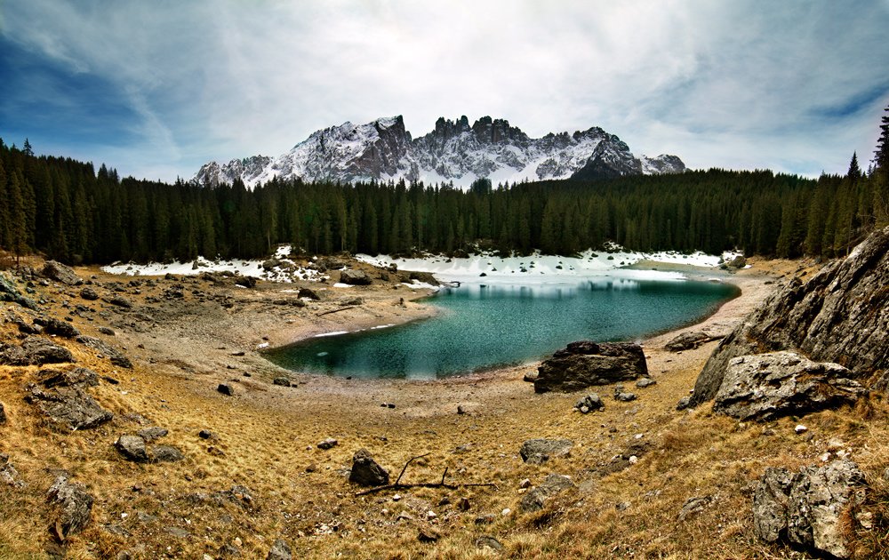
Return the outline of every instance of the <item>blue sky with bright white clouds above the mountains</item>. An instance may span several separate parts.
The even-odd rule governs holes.
[[[346,121],[487,115],[845,173],[889,105],[886,29],[889,0],[0,0],[0,138],[172,181]]]

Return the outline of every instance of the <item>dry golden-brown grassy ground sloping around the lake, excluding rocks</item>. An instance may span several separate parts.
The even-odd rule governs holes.
[[[758,261],[749,275],[762,284],[763,278],[798,269],[799,263]],[[110,279],[94,269],[77,272]],[[75,291],[40,290],[55,300],[50,313],[64,316],[60,302],[66,298],[60,292]],[[388,287],[378,292],[364,294],[369,306],[382,310],[378,315],[402,309],[389,300],[397,302],[404,293]],[[251,297],[256,301],[244,303],[244,313],[251,305],[261,308],[263,296]],[[404,310],[412,306],[408,302]],[[20,313],[11,304],[6,308]],[[305,310],[294,315],[292,327],[317,326],[316,313],[323,309],[316,309],[315,318]],[[414,308],[415,314],[423,312]],[[329,320],[362,320],[333,315]],[[717,314],[711,321],[719,319]],[[93,322],[75,320],[91,336],[100,336],[96,328],[106,323],[99,316]],[[10,456],[28,484],[0,486],[0,558],[46,558],[47,550],[60,550],[48,529],[52,512],[45,497],[60,469],[95,496],[92,523],[62,547],[65,557],[76,559],[116,558],[121,551],[132,558],[216,558],[224,545],[245,558],[265,558],[278,538],[291,545],[294,558],[805,558],[804,552],[766,546],[752,535],[751,483],[769,466],[820,464],[829,450],[848,452],[870,484],[864,508],[873,528],[866,531],[851,521],[847,527],[854,557],[889,558],[889,483],[883,479],[889,467],[889,405],[881,395],[854,409],[765,425],[714,415],[709,405],[677,412],[677,400],[693,388],[717,342],[677,356],[661,349],[668,335],[644,344],[656,385],[633,388],[639,398],[630,403],[613,401],[613,386],[594,388],[589,392],[603,396],[605,412],[586,415],[573,411],[581,395],[535,395],[522,380],[535,365],[437,381],[292,374],[298,384],[284,388],[271,383],[281,371],[260,356],[230,356],[230,350],[243,348],[238,341],[245,346],[259,337],[250,326],[257,323],[247,323],[218,332],[205,329],[201,336],[191,335],[188,324],[157,324],[144,332],[118,327],[117,337],[102,338],[127,348],[136,364],[132,371],[112,366],[73,340],[57,339],[79,365],[120,381],[90,389],[115,419],[82,432],[53,425],[22,400],[36,366],[0,366],[0,402],[9,418],[0,426],[0,452]],[[0,340],[16,340],[17,334],[14,324],[0,325]],[[225,380],[232,381],[235,396],[215,390]],[[468,413],[457,414],[458,404]],[[187,459],[149,465],[124,461],[113,444],[143,427],[124,419],[132,413],[146,425],[168,428],[169,435],[156,443],[176,446]],[[797,435],[797,423],[809,431]],[[202,429],[219,439],[199,438]],[[326,437],[339,444],[318,449]],[[525,465],[519,447],[537,437],[570,438],[574,447],[567,457]],[[636,464],[596,476],[594,471],[637,442],[652,447]],[[208,452],[211,446],[218,451]],[[436,483],[446,468],[446,484],[491,485],[356,496],[363,489],[350,484],[343,470],[361,448],[388,468],[393,481],[408,460],[426,454],[412,461],[402,482]],[[529,479],[533,487],[550,473],[571,476],[579,489],[563,492],[540,512],[522,513],[522,481]],[[186,500],[195,492],[228,491],[235,484],[249,488],[252,504]],[[706,498],[706,506],[680,521],[683,505],[693,497]],[[466,510],[460,508],[464,498]],[[145,521],[145,514],[156,520]],[[116,525],[120,534],[107,525]],[[170,527],[190,534],[173,536]],[[479,548],[482,536],[493,537],[502,549]]]

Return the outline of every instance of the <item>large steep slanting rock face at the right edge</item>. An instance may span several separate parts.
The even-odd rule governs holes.
[[[846,260],[805,284],[792,279],[744,319],[709,357],[692,405],[717,394],[729,360],[795,350],[816,362],[844,365],[873,380],[889,365],[889,228],[869,236]]]

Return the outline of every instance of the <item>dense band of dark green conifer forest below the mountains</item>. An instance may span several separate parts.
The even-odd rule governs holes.
[[[468,191],[422,183],[240,181],[208,187],[120,179],[104,165],[34,156],[0,140],[0,249],[69,263],[258,258],[289,243],[313,254],[503,252],[571,255],[614,242],[638,251],[741,248],[844,254],[889,223],[885,172],[809,180],[718,169]]]

